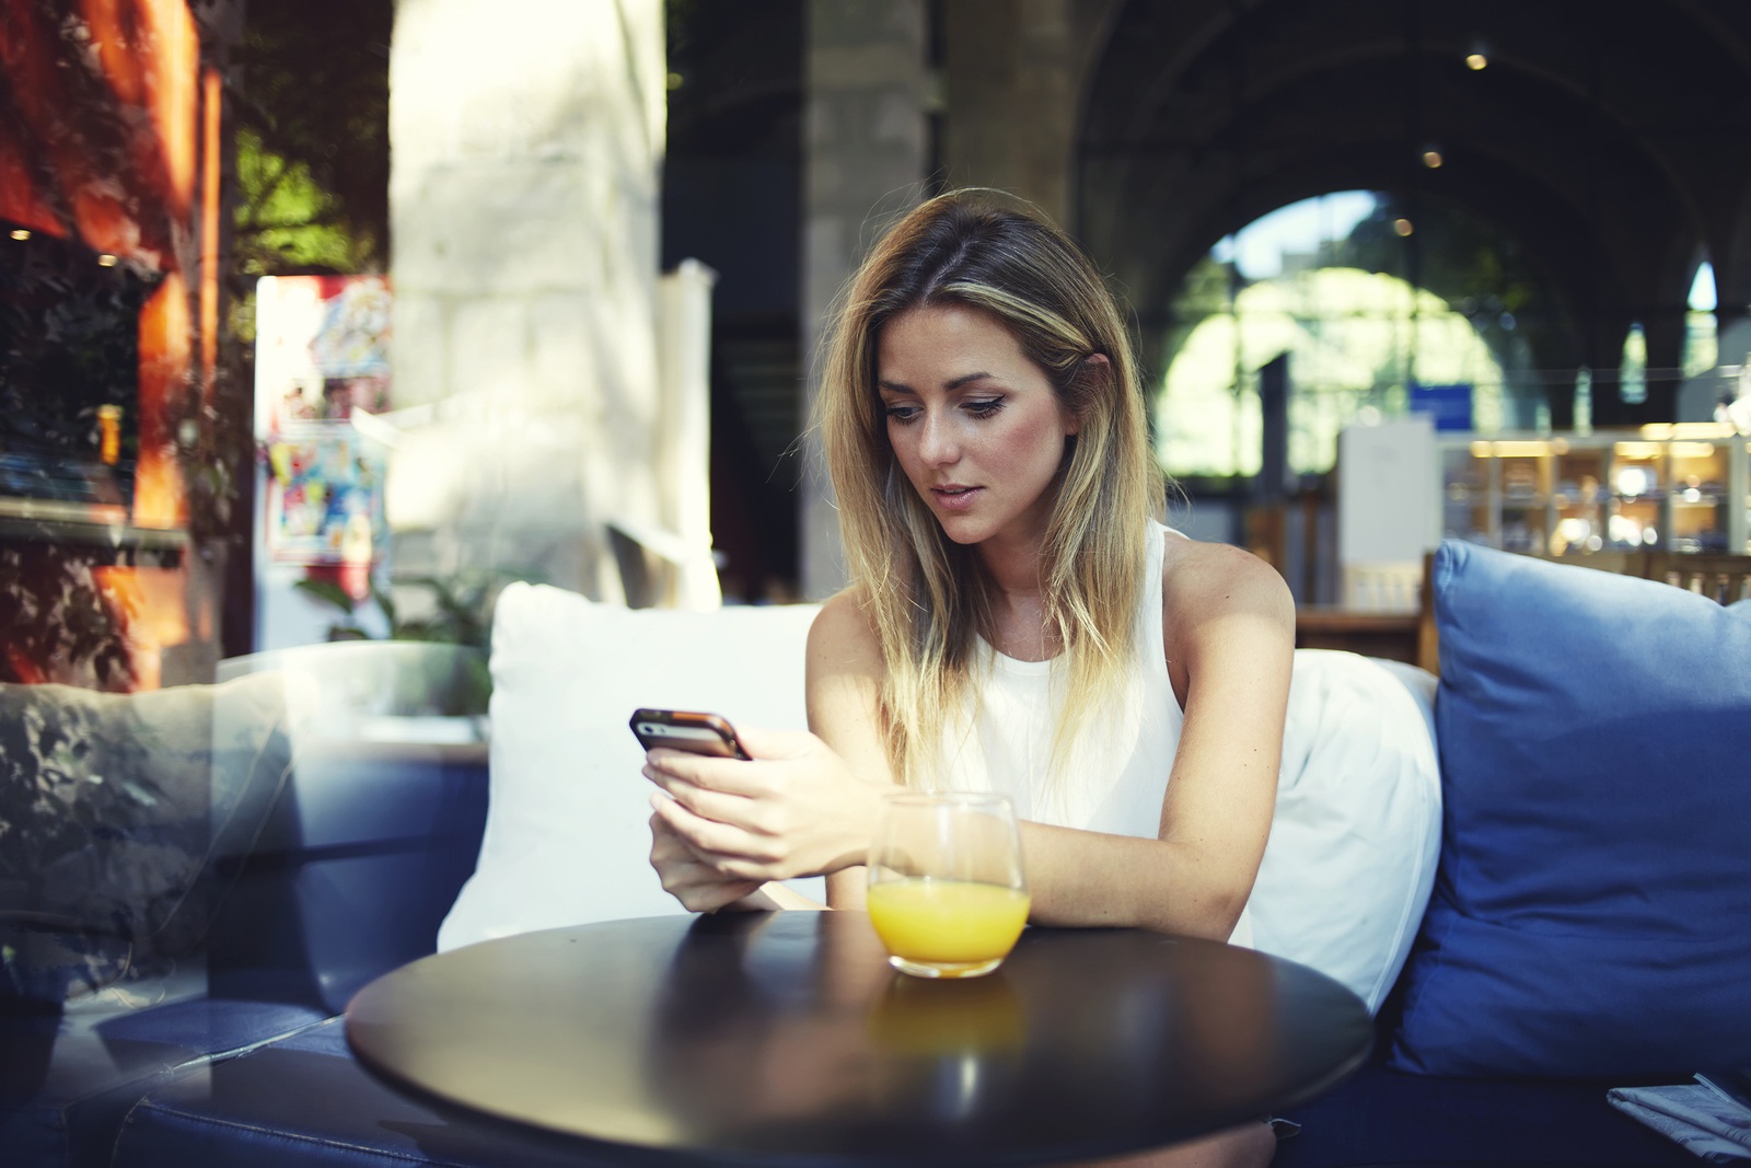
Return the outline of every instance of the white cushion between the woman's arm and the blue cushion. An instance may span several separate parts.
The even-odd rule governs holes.
[[[1296,650],[1276,814],[1247,911],[1252,947],[1378,1010],[1410,954],[1441,849],[1436,678]]]

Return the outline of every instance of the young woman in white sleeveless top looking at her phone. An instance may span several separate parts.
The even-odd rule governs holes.
[[[1010,793],[1042,925],[1247,940],[1294,606],[1161,525],[1124,322],[1077,247],[974,193],[902,219],[846,292],[819,426],[853,583],[809,636],[811,734],[651,751],[651,862],[688,909],[861,907],[884,793]],[[1266,1163],[1264,1124],[1147,1163]],[[1140,1161],[1143,1163],[1143,1161]]]

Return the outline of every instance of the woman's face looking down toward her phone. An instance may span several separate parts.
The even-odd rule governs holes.
[[[902,312],[877,338],[876,382],[900,469],[949,539],[1038,543],[1077,427],[996,317]]]

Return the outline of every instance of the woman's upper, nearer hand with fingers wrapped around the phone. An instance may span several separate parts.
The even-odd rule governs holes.
[[[753,762],[676,749],[644,756],[667,792],[651,807],[700,860],[744,881],[786,881],[863,863],[881,797],[812,734],[739,728]]]

